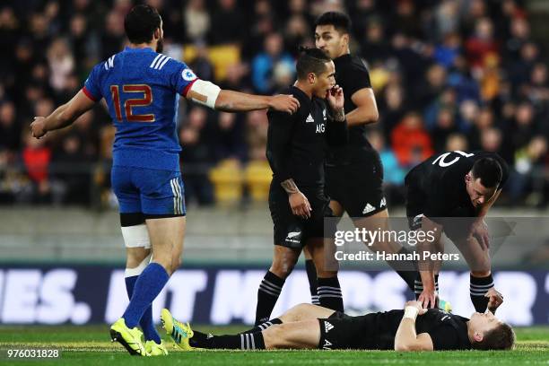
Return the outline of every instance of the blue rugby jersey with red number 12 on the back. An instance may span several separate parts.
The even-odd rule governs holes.
[[[114,165],[179,170],[179,94],[196,80],[187,65],[152,48],[125,48],[93,67],[83,92],[109,106]]]

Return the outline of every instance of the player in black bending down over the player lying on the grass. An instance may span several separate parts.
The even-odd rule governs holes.
[[[443,252],[440,234],[446,233],[464,256],[471,271],[470,293],[475,310],[484,312],[484,294],[493,287],[488,229],[484,216],[509,177],[507,163],[496,153],[442,153],[417,165],[405,177],[406,216],[410,229],[434,231],[425,251]],[[433,250],[434,249],[434,250]],[[421,280],[415,294],[425,307],[436,302],[436,272],[440,260],[420,261]]]

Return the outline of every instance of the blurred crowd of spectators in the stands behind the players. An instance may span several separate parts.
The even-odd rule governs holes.
[[[164,53],[222,88],[261,94],[292,83],[298,46],[314,45],[318,14],[349,13],[352,52],[367,62],[379,107],[370,142],[381,154],[393,203],[402,201],[405,172],[432,153],[482,149],[500,153],[512,168],[503,204],[547,204],[547,57],[543,39],[534,38],[526,1],[146,3],[161,13]],[[0,203],[113,202],[114,131],[100,104],[45,139],[31,138],[29,125],[78,92],[93,65],[124,47],[123,19],[134,4],[0,3]],[[266,128],[263,111],[218,113],[182,102],[187,201],[260,199],[247,184],[268,182]]]

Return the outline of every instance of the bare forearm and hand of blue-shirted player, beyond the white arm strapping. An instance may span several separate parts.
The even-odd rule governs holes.
[[[295,113],[300,102],[292,95],[252,95],[244,92],[222,90],[215,100],[215,109],[225,112],[246,112],[257,109],[274,109]]]

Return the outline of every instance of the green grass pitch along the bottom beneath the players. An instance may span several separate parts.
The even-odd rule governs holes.
[[[0,327],[0,364],[14,365],[549,365],[549,327],[516,328],[517,348],[510,352],[396,353],[393,351],[196,351],[184,353],[170,344],[168,357],[131,357],[109,341],[109,327]],[[242,327],[199,327],[213,334]],[[161,333],[164,335],[164,333]],[[8,349],[57,349],[57,359],[10,359]]]

